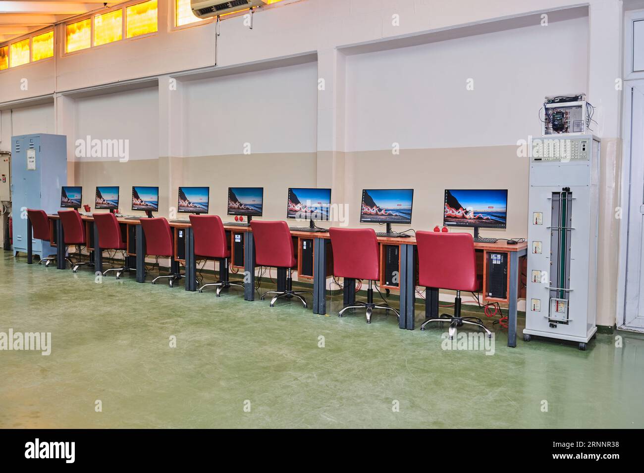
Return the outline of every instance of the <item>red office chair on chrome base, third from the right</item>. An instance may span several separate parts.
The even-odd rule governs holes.
[[[292,299],[297,297],[304,307],[307,300],[301,294],[311,294],[310,291],[294,291],[292,268],[296,265],[295,251],[293,249],[293,238],[290,236],[289,225],[285,221],[255,221],[251,220],[252,235],[255,241],[255,264],[258,266],[274,266],[276,268],[287,268],[286,290],[267,291],[260,299],[263,301],[265,295],[275,294],[270,301],[274,306],[275,301],[280,297]]]

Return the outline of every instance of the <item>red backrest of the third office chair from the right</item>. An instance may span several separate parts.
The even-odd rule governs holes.
[[[295,266],[293,238],[285,221],[251,220],[255,241],[255,264],[292,268]]]

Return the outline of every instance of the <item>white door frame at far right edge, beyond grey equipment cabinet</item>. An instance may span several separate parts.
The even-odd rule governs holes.
[[[627,265],[627,250],[628,250],[628,237],[629,237],[629,214],[630,214],[630,162],[632,160],[632,147],[630,142],[631,124],[632,124],[632,90],[638,89],[644,94],[644,79],[626,80],[624,82],[622,94],[622,119],[621,119],[621,137],[622,137],[622,152],[621,152],[621,189],[620,189],[620,202],[621,202],[621,215],[620,219],[620,253],[619,253],[619,266],[618,266],[618,280],[617,280],[617,308],[616,308],[616,323],[618,328],[632,329],[641,331],[640,328],[629,328],[626,325],[626,265]],[[644,111],[643,111],[644,113]],[[643,150],[644,154],[644,150]],[[643,263],[644,264],[644,263]]]

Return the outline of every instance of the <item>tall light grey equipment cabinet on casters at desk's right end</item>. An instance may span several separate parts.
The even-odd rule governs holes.
[[[600,140],[592,135],[533,141],[524,339],[579,342],[594,337]]]

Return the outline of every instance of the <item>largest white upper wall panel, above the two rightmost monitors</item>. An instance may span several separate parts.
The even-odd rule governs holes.
[[[587,23],[348,56],[346,151],[393,142],[404,149],[509,145],[539,136],[544,96],[586,89]],[[548,52],[560,49],[565,54]]]

